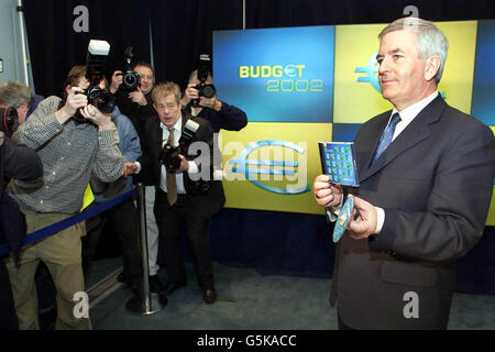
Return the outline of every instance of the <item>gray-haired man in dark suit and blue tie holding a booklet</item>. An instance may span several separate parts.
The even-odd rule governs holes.
[[[341,329],[447,329],[455,261],[486,221],[494,136],[438,94],[448,42],[432,23],[397,20],[380,40],[380,85],[394,109],[354,140],[355,218],[337,246],[330,301]],[[349,196],[324,175],[314,193],[331,220]]]

